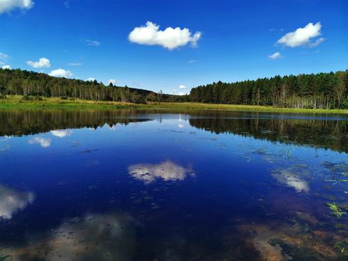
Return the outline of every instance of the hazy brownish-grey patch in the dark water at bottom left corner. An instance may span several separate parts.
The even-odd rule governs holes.
[[[13,260],[132,260],[134,221],[127,214],[86,214],[62,223],[28,245],[0,248]],[[1,260],[1,259],[0,259]],[[11,259],[10,259],[11,260]]]

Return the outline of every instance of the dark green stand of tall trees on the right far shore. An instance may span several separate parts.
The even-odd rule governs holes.
[[[193,88],[192,102],[271,105],[298,109],[348,109],[348,70],[276,76]]]

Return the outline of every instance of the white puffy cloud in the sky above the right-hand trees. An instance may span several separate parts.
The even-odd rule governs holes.
[[[301,45],[308,45],[309,47],[315,47],[324,41],[324,38],[319,38],[316,42],[311,42],[312,38],[315,38],[322,33],[322,24],[317,22],[317,24],[309,23],[303,28],[298,28],[293,32],[287,33],[280,38],[277,43],[283,44],[287,47],[299,47]]]

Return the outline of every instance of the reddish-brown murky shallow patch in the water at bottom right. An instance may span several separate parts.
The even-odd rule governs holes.
[[[267,225],[243,224],[240,229],[248,235],[246,242],[251,242],[259,253],[255,260],[337,260],[339,254],[333,249],[334,243],[329,241],[333,234],[326,230],[313,231],[315,226],[303,229],[298,222],[288,226],[274,221]],[[337,237],[336,240],[344,240],[340,235]]]

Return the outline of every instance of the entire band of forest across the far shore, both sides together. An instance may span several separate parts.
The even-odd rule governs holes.
[[[189,95],[105,86],[102,82],[51,77],[26,70],[0,69],[0,98],[23,95],[24,100],[61,97],[113,102],[201,102],[264,105],[295,109],[348,109],[348,70],[299,74],[223,83],[191,89]]]

